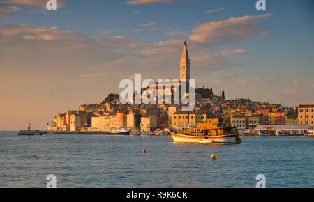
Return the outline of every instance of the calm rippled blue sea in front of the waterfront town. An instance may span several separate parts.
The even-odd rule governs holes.
[[[314,187],[314,138],[241,139],[207,146],[171,137],[0,132],[0,187],[46,187],[49,174],[57,187],[255,187],[257,174],[266,187]]]

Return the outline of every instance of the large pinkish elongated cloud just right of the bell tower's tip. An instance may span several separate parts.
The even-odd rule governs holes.
[[[224,21],[201,24],[192,30],[190,40],[207,45],[223,45],[242,42],[247,38],[264,37],[267,31],[262,29],[255,21],[272,14],[246,15],[244,17],[231,17]]]

